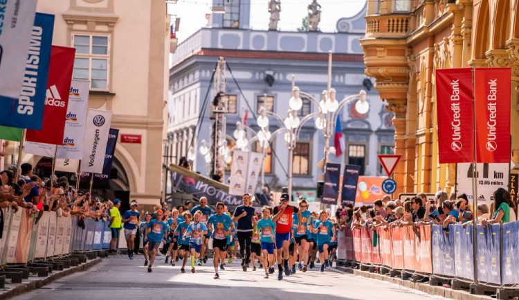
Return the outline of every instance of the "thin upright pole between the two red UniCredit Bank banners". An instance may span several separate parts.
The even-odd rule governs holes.
[[[474,285],[477,285],[477,133],[476,133],[476,122],[475,122],[475,67],[472,67],[472,106],[473,106],[473,122],[474,122],[474,161],[472,171],[472,214],[473,214],[473,252],[474,252]]]

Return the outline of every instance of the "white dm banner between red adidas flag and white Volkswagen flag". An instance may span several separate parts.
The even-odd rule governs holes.
[[[89,109],[90,82],[72,80],[69,105],[66,112],[63,145],[57,147],[57,158],[80,160],[83,158],[86,111]]]

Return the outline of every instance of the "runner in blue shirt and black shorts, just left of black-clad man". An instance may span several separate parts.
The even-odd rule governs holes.
[[[224,261],[227,254],[227,236],[235,227],[233,219],[228,214],[224,214],[224,210],[224,203],[217,203],[217,213],[210,216],[207,221],[208,231],[212,232],[212,251],[215,252],[212,259],[212,265],[215,267],[215,279],[220,278],[218,274],[218,259],[221,260],[221,270],[225,270]]]

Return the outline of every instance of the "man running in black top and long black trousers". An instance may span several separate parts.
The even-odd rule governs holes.
[[[253,216],[254,207],[251,206],[251,195],[243,194],[243,205],[236,207],[233,214],[233,222],[237,222],[236,235],[239,243],[239,254],[242,256],[242,269],[247,271],[247,265],[251,258],[251,243],[253,240]]]

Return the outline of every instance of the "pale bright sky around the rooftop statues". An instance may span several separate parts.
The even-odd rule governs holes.
[[[222,4],[226,0],[217,0]],[[230,0],[239,1],[239,0]],[[251,0],[251,29],[266,30],[270,14],[269,0]],[[295,31],[301,27],[302,19],[307,17],[307,6],[312,0],[281,0],[280,21],[277,28]],[[321,5],[319,28],[322,32],[335,32],[338,19],[352,17],[364,7],[366,0],[318,0]],[[178,0],[168,5],[168,13],[181,18],[177,37],[179,43],[194,32],[206,26],[206,13],[211,12],[212,0]]]

